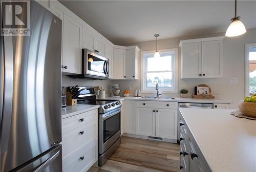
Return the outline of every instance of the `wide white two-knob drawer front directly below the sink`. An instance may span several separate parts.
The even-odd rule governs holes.
[[[178,109],[178,102],[168,101],[136,101],[137,107],[151,107],[160,109]]]

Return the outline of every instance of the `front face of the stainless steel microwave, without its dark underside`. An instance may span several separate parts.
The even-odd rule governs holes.
[[[83,74],[109,77],[109,59],[88,49],[83,49]]]

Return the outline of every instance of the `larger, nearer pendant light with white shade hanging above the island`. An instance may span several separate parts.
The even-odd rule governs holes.
[[[246,32],[244,24],[240,21],[240,16],[237,16],[237,0],[234,0],[234,17],[231,18],[231,22],[227,28],[226,36],[239,36]]]

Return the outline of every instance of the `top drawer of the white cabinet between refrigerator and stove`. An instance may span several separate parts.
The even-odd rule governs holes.
[[[77,127],[80,127],[84,124],[87,124],[91,121],[96,120],[97,117],[98,117],[98,109],[62,119],[61,120],[62,135],[71,130],[74,130]]]

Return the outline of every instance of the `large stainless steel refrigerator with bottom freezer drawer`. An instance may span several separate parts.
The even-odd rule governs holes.
[[[30,2],[30,36],[1,36],[1,172],[62,171],[61,20]]]

